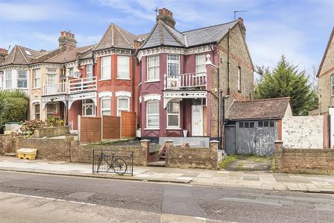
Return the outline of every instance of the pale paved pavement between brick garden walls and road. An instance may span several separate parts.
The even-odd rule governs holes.
[[[92,164],[20,160],[0,156],[0,170],[63,176],[117,178],[169,183],[187,183],[209,187],[246,187],[260,190],[290,190],[334,194],[334,176],[281,174],[260,171],[225,171],[167,167],[134,167],[134,176],[92,173]]]

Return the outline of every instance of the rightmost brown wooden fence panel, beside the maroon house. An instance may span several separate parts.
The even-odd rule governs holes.
[[[136,112],[121,112],[121,137],[136,137]]]

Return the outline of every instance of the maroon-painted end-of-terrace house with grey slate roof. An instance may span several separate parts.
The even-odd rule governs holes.
[[[180,32],[173,13],[159,10],[137,54],[141,137],[206,147],[210,139],[221,139],[223,98],[228,108],[253,93],[245,32],[241,18]]]

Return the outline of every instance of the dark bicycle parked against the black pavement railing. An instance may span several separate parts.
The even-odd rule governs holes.
[[[125,174],[127,171],[127,162],[120,157],[115,158],[115,154],[115,152],[112,152],[111,155],[105,155],[103,151],[101,151],[99,161],[97,162],[97,173],[99,172],[101,164],[104,161],[108,165],[106,172],[113,169],[113,171],[118,175]],[[110,160],[109,157],[111,157],[111,162],[108,161]]]

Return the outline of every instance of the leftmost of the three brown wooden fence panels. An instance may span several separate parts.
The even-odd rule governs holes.
[[[101,141],[101,118],[81,116],[79,133],[81,142]]]

